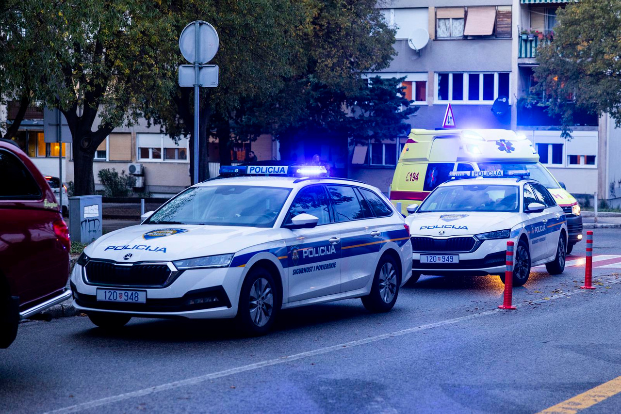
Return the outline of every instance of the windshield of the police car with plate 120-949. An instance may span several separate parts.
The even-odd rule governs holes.
[[[463,211],[518,211],[518,186],[464,184],[438,187],[417,213]]]

